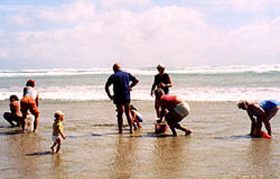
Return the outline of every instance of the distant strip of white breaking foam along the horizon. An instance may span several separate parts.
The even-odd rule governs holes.
[[[155,68],[124,68],[125,71],[135,75],[154,75]],[[280,64],[258,66],[204,66],[167,68],[170,74],[230,74],[230,73],[269,73],[280,72]],[[0,77],[43,77],[43,76],[75,76],[88,74],[111,74],[111,68],[90,69],[25,69],[25,70],[0,70]]]

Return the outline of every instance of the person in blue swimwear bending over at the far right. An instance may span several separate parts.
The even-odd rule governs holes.
[[[248,117],[251,119],[250,135],[255,138],[261,137],[262,123],[265,124],[267,134],[272,135],[269,120],[272,119],[280,109],[280,103],[276,100],[264,100],[262,102],[249,102],[241,100],[237,107],[246,110]]]

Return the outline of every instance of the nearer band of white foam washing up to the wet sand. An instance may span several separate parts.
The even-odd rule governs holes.
[[[108,100],[103,86],[64,86],[38,88],[43,100]],[[22,96],[22,91],[0,89],[0,100],[10,95]],[[280,100],[280,88],[176,88],[174,95],[188,101],[238,101],[238,100]],[[132,100],[153,100],[149,88],[136,88]]]

